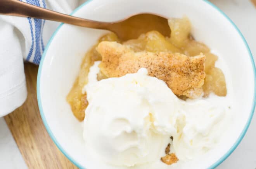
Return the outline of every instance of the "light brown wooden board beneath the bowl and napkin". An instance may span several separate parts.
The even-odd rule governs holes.
[[[43,125],[36,98],[38,66],[26,63],[24,69],[28,98],[21,107],[5,116],[5,121],[27,166],[33,169],[76,169],[56,147]]]

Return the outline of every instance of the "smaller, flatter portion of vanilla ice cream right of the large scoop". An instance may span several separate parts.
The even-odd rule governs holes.
[[[224,97],[180,100],[177,135],[173,148],[180,160],[194,159],[215,147],[229,123],[228,104]]]

